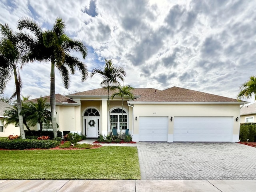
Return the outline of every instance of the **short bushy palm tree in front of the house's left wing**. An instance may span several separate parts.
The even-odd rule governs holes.
[[[26,108],[22,110],[22,114],[26,117],[26,121],[30,126],[35,126],[37,123],[40,125],[42,131],[42,124],[49,125],[51,120],[51,112],[47,110],[50,104],[47,104],[46,98],[39,98],[37,103],[28,102]]]

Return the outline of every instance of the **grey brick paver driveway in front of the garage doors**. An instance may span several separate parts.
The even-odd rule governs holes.
[[[138,142],[142,179],[256,179],[256,148],[228,142]]]

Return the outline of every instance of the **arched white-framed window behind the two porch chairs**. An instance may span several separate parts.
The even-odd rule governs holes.
[[[122,117],[123,112],[123,117]],[[110,112],[110,122],[112,129],[127,129],[127,113],[126,111],[117,108]]]

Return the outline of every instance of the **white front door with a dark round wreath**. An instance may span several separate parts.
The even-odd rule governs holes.
[[[98,137],[98,122],[99,117],[84,117],[84,129],[86,133],[86,137],[88,138],[96,138]]]

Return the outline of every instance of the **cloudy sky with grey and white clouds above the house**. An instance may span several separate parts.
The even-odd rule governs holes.
[[[66,34],[87,46],[89,71],[107,58],[136,88],[178,86],[236,98],[256,75],[255,10],[255,1],[244,0],[0,0],[0,23],[16,30],[19,18],[30,17],[51,29],[61,17]],[[50,94],[49,63],[29,63],[21,76],[22,95]],[[100,81],[81,82],[77,72],[66,90],[56,71],[56,93],[99,88]],[[5,94],[13,90],[10,81]]]

